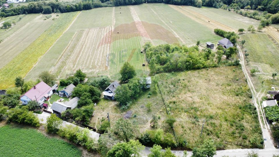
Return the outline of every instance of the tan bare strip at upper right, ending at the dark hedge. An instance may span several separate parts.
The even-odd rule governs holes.
[[[196,22],[203,24],[207,26],[208,28],[211,28],[212,30],[219,28],[224,31],[236,31],[235,29],[226,26],[224,24],[221,24],[220,22],[217,22],[213,19],[210,19],[196,11],[190,10],[188,8],[183,8],[181,6],[174,6],[174,5],[169,5],[171,8],[174,8],[175,10],[179,11],[183,15],[186,15],[187,17],[195,20]]]

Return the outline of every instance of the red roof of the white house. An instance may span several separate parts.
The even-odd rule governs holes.
[[[51,91],[51,87],[42,81],[42,82],[38,83],[37,85],[35,85],[35,87],[28,90],[22,96],[25,95],[26,97],[28,97],[31,100],[37,99],[37,101],[39,101],[40,99],[42,99],[42,97],[47,95],[47,93],[49,91]]]

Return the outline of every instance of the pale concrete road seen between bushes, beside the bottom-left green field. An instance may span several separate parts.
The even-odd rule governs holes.
[[[38,116],[38,118],[40,119],[40,123],[42,123],[42,124],[47,123],[47,117],[50,116],[50,114],[46,113],[46,112],[43,112],[42,114],[36,114],[36,115]],[[66,121],[62,121],[62,125],[61,126],[65,127],[66,125],[77,126],[75,124],[72,124],[72,123],[69,123],[69,122],[66,122]],[[81,128],[81,129],[84,129],[81,126],[78,126],[78,127]],[[92,130],[89,130],[89,133],[90,133],[90,137],[91,138],[95,139],[96,141],[99,139],[99,133],[96,133],[95,131],[92,131]]]

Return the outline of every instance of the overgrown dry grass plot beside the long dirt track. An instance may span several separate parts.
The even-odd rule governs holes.
[[[255,147],[249,142],[251,138],[262,137],[241,67],[162,73],[156,77],[170,115],[177,118],[174,132],[186,138],[188,148],[199,146],[204,139],[214,139],[219,149],[249,148]]]

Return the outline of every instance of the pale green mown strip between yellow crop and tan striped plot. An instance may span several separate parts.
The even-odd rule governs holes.
[[[111,25],[111,7],[81,11],[74,23],[70,26],[70,28],[61,36],[61,38],[55,44],[53,44],[51,49],[47,53],[45,53],[44,56],[42,56],[40,61],[33,67],[33,69],[26,75],[25,78],[27,80],[35,80],[41,71],[52,71],[59,58],[61,58],[63,53],[67,51],[68,47],[73,44],[71,42],[74,41],[74,35],[79,30],[86,30],[89,28],[97,27],[108,27]],[[64,74],[66,74],[66,72],[64,72]],[[59,76],[60,74],[57,75]]]

